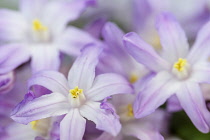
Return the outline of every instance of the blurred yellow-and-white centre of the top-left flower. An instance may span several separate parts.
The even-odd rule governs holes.
[[[50,41],[50,31],[39,19],[32,21],[32,41],[48,42]]]

